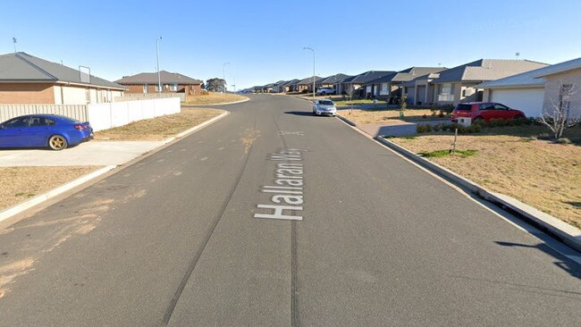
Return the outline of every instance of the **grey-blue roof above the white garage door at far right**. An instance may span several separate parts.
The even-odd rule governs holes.
[[[534,71],[526,71],[520,74],[505,77],[500,80],[490,80],[476,85],[476,88],[526,88],[543,87],[544,76],[556,74],[564,71],[572,71],[581,68],[581,58],[569,60],[564,63],[557,63],[551,66],[539,68]]]

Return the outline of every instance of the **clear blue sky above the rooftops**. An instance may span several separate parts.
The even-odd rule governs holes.
[[[160,67],[237,88],[316,74],[453,67],[480,58],[581,56],[581,1],[3,1],[0,54],[17,51],[106,80]]]

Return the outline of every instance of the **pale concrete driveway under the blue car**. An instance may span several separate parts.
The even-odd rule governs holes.
[[[89,141],[62,151],[0,149],[0,167],[124,164],[164,143],[164,141]]]

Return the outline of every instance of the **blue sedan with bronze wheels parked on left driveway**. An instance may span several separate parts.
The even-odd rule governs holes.
[[[0,147],[50,147],[63,150],[93,138],[88,122],[57,114],[27,114],[0,124]]]

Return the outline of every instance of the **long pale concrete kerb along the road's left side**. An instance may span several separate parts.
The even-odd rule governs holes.
[[[9,218],[11,218],[17,214],[21,214],[21,213],[25,212],[26,210],[29,210],[32,207],[35,207],[37,205],[40,205],[40,204],[46,202],[49,199],[52,199],[54,197],[58,197],[58,196],[62,195],[63,193],[65,193],[71,189],[75,189],[75,188],[79,187],[80,185],[87,183],[90,180],[95,180],[95,179],[97,179],[97,177],[105,175],[105,173],[111,172],[117,167],[123,168],[123,167],[128,167],[131,164],[135,164],[135,163],[139,162],[139,160],[147,157],[148,155],[156,153],[157,149],[159,149],[161,147],[166,147],[166,146],[168,146],[169,143],[175,141],[178,138],[188,136],[189,134],[191,134],[197,130],[203,129],[207,125],[222,119],[223,117],[225,117],[228,114],[230,114],[230,112],[224,111],[223,113],[210,119],[209,121],[202,122],[202,123],[198,124],[197,126],[192,127],[189,130],[182,131],[181,133],[177,134],[173,138],[164,139],[164,142],[162,143],[162,145],[160,147],[157,147],[156,149],[149,151],[143,155],[139,155],[137,158],[129,161],[129,164],[126,163],[126,164],[122,164],[122,165],[105,166],[104,168],[101,168],[95,172],[90,172],[87,175],[81,176],[80,178],[78,178],[76,180],[72,180],[66,184],[63,184],[59,187],[56,187],[55,189],[51,189],[51,190],[47,191],[46,193],[40,194],[36,197],[29,198],[28,200],[21,202],[17,205],[9,206],[8,208],[6,208],[4,210],[0,210],[0,222],[4,222],[4,221],[8,220]]]

